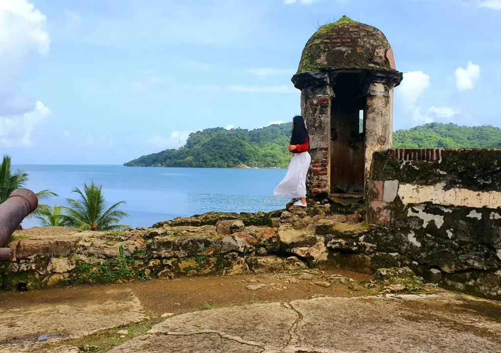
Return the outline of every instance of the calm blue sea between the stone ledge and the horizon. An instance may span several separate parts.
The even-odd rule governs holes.
[[[208,211],[256,212],[283,208],[288,200],[273,196],[287,169],[156,168],[118,165],[14,165],[29,174],[27,187],[59,194],[42,202],[66,205],[78,186],[103,185],[108,206],[125,200],[132,227]],[[37,226],[25,220],[24,227]]]

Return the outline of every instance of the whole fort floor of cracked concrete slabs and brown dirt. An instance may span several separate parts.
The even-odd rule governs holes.
[[[322,276],[181,278],[2,293],[0,353],[501,351],[497,302],[443,290],[374,295],[353,283],[325,287]]]

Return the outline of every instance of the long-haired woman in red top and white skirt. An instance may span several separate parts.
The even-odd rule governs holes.
[[[292,120],[292,138],[289,150],[294,154],[284,179],[275,187],[275,196],[283,198],[301,198],[294,206],[306,207],[306,174],[310,167],[311,156],[308,153],[310,137],[305,120],[298,115]]]

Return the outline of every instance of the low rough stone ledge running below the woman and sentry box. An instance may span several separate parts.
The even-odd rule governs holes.
[[[245,225],[245,221],[235,221],[234,214],[231,219],[216,220],[221,213],[211,212],[193,219],[211,219],[215,221],[213,225],[163,222],[155,228],[108,232],[71,228],[16,231],[9,246],[16,249],[17,257],[0,263],[0,280],[4,290],[24,290],[79,283],[296,271],[307,267],[374,273],[382,267],[410,266],[419,274],[424,273],[423,277],[447,287],[501,298],[495,248],[475,245],[471,239],[459,241],[449,233],[439,236],[432,232],[423,237],[415,231],[411,237],[381,226],[371,229],[368,224],[357,222],[358,214],[312,215],[317,206],[307,210],[288,207],[288,211],[268,213],[269,217],[273,215],[275,228]],[[265,224],[269,222],[270,218],[260,218],[264,213],[258,214],[259,217],[252,215],[248,219],[258,217]],[[186,223],[186,219],[182,222]],[[179,224],[177,221],[170,224]],[[223,234],[217,232],[218,221],[229,224]],[[409,225],[418,226],[414,223]],[[451,246],[446,249],[436,243]],[[451,257],[452,250],[456,257]],[[479,251],[489,254],[488,261],[482,262],[483,257],[477,256]],[[433,275],[428,276],[428,272]],[[474,280],[467,282],[468,276]]]

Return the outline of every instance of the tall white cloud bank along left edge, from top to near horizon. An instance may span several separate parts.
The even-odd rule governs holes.
[[[45,24],[45,15],[33,3],[0,1],[0,144],[5,146],[31,146],[31,132],[51,112],[15,91],[17,74],[30,52],[49,52]]]

